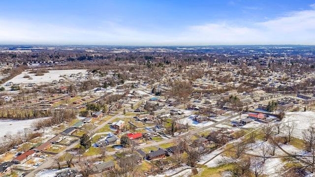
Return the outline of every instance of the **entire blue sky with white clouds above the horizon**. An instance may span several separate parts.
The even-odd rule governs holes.
[[[315,44],[315,0],[1,0],[0,44]]]

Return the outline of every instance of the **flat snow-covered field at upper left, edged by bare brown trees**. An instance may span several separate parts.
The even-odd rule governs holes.
[[[35,74],[29,73],[30,71],[24,71],[21,74],[15,76],[11,80],[7,81],[8,82],[13,82],[13,83],[35,83],[35,84],[40,84],[40,83],[52,83],[53,80],[59,81],[59,79],[64,79],[60,77],[61,75],[66,75],[67,77],[71,74],[77,74],[79,72],[82,72],[83,75],[87,73],[87,70],[85,69],[73,69],[73,70],[49,70],[49,73],[45,73],[43,76],[35,76]],[[23,78],[25,75],[29,75],[32,79],[29,78]]]

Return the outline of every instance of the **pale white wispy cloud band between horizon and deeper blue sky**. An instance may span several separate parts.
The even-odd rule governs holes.
[[[160,32],[103,21],[91,27],[0,18],[0,43],[107,45],[315,44],[315,4],[249,25],[229,21]],[[122,22],[120,22],[122,23]],[[158,31],[158,32],[157,32]]]

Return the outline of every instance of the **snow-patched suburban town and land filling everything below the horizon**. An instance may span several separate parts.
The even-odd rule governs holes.
[[[315,46],[0,45],[0,177],[313,177]]]

